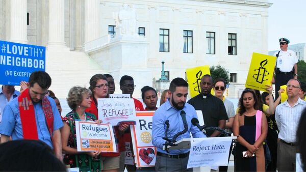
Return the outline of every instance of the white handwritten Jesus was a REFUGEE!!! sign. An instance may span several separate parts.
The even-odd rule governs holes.
[[[98,99],[99,120],[113,126],[122,121],[135,121],[133,99]]]

